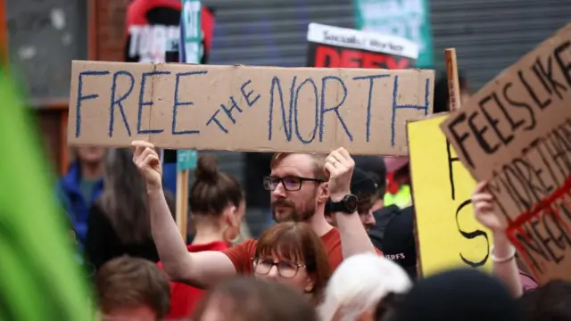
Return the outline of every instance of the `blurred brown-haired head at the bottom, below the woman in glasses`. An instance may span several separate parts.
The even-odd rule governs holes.
[[[194,310],[194,321],[317,321],[299,292],[275,282],[236,277],[216,285]]]

